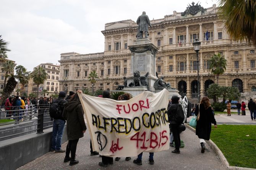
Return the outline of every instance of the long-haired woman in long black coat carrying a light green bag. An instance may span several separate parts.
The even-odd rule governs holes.
[[[196,135],[200,140],[201,153],[205,150],[205,140],[210,139],[212,123],[214,127],[217,128],[217,124],[212,113],[211,103],[208,97],[203,97],[200,104],[196,106],[195,114],[198,115],[198,110],[200,107],[200,118],[196,124]]]

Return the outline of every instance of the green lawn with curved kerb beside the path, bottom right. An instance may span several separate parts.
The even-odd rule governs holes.
[[[256,168],[256,126],[212,126],[211,140],[220,148],[230,166]]]

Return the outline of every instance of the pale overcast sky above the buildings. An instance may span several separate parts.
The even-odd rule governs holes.
[[[105,23],[149,19],[183,12],[193,0],[1,0],[0,35],[9,41],[8,59],[32,71],[41,63],[59,64],[60,54],[104,52]],[[197,3],[198,1],[194,1]],[[201,0],[204,8],[217,0]],[[218,5],[218,4],[217,4]]]

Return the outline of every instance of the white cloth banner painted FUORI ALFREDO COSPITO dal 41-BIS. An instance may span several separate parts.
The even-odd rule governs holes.
[[[169,149],[168,96],[166,89],[122,101],[79,94],[93,150],[128,157]]]

